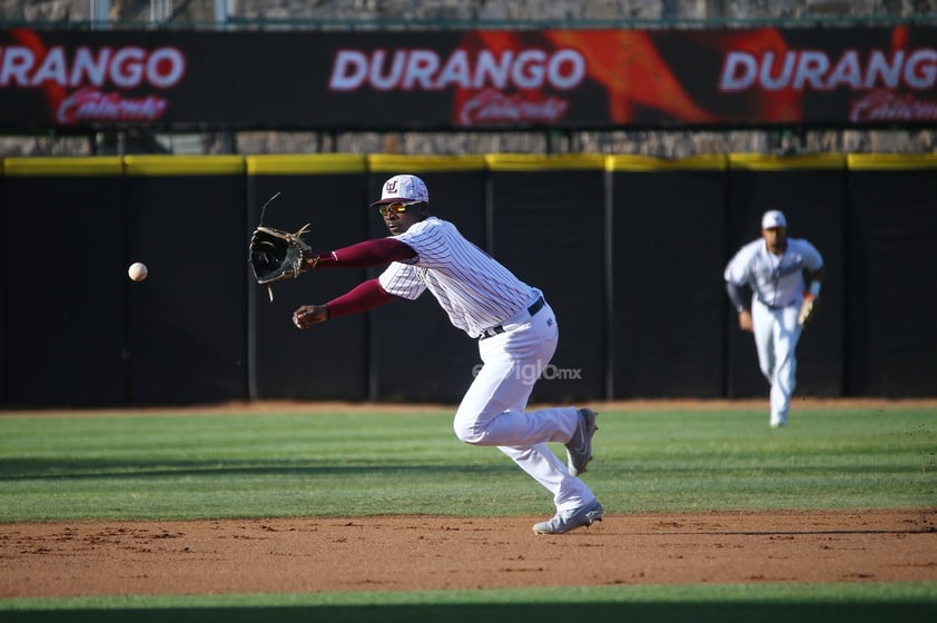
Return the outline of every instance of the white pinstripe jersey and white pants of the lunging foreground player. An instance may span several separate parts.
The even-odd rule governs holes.
[[[585,483],[548,446],[572,438],[576,408],[524,411],[559,339],[550,305],[534,305],[542,293],[436,217],[395,238],[417,257],[410,264],[392,263],[378,278],[384,290],[412,300],[428,289],[455,327],[480,338],[484,365],[456,411],[456,436],[467,444],[497,446],[553,494],[558,511],[594,502]]]

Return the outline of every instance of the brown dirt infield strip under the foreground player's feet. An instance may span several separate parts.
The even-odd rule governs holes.
[[[937,510],[8,524],[0,597],[935,582]]]

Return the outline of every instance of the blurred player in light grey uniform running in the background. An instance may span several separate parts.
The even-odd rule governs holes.
[[[729,260],[726,291],[739,315],[739,328],[753,332],[761,373],[771,384],[771,427],[787,424],[797,385],[797,343],[820,295],[823,258],[802,238],[788,238],[787,219],[778,210],[761,218],[761,238]],[[809,284],[809,286],[807,286]],[[741,288],[751,289],[751,309]]]

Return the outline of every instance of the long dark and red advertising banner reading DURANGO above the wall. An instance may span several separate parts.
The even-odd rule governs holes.
[[[0,29],[0,129],[471,130],[937,121],[937,28]]]

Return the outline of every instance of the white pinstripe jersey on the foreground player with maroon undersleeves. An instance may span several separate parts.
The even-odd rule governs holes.
[[[384,290],[412,300],[428,289],[452,324],[472,337],[503,324],[540,294],[448,221],[430,217],[395,238],[417,256],[407,264],[394,261],[381,274]]]

